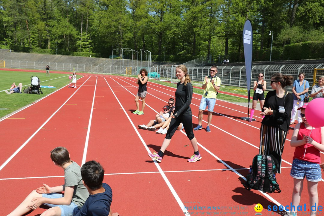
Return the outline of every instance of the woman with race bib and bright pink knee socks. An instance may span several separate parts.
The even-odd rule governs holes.
[[[263,108],[264,91],[265,91],[266,86],[267,86],[267,82],[264,81],[263,77],[264,77],[263,73],[260,73],[258,75],[258,80],[254,81],[254,86],[253,86],[254,94],[253,94],[252,109],[251,109],[251,115],[250,115],[249,122],[253,121],[252,120],[253,119],[253,114],[254,114],[255,108],[257,107],[258,100],[260,100],[260,108],[261,108],[261,110]],[[262,116],[262,118],[264,118],[264,116]]]

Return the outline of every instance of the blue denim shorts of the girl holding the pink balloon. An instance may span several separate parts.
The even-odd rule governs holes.
[[[293,160],[290,175],[296,179],[304,179],[306,176],[307,181],[318,182],[322,180],[322,173],[319,164],[299,159]]]

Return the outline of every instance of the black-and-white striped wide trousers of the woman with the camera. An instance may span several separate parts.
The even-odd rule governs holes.
[[[261,124],[260,128],[260,150],[259,154],[269,155],[275,151],[278,155],[282,155],[284,151],[284,142],[287,132],[280,128]],[[281,173],[281,159],[275,170],[276,173]]]

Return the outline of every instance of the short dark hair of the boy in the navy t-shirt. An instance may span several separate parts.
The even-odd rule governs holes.
[[[91,190],[102,187],[105,170],[97,161],[88,161],[81,167],[81,176],[84,183]]]

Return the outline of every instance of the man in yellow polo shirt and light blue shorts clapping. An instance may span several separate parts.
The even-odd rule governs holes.
[[[221,86],[221,79],[218,76],[216,76],[217,72],[217,66],[212,66],[210,69],[210,75],[205,76],[205,79],[203,81],[202,88],[204,90],[204,94],[199,106],[198,125],[193,129],[195,131],[203,129],[203,111],[208,106],[208,119],[206,131],[210,132],[209,125],[213,118],[213,110],[216,103],[217,92],[219,91],[219,88]]]

